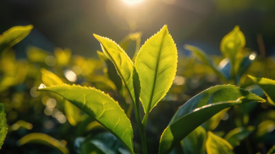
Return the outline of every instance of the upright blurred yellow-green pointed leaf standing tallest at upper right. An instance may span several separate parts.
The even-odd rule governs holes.
[[[232,66],[235,64],[236,53],[241,51],[243,47],[245,47],[245,36],[239,26],[235,26],[221,40],[221,53],[230,59]]]

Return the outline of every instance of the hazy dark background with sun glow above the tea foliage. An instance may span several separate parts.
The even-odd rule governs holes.
[[[48,51],[67,47],[74,54],[92,56],[100,49],[93,33],[118,42],[141,31],[143,44],[164,24],[179,51],[188,43],[219,54],[221,38],[239,25],[247,47],[275,54],[274,0],[142,0],[134,5],[124,0],[0,0],[0,10],[0,31],[34,25],[30,36],[17,45],[19,57],[30,44]],[[264,49],[259,49],[259,42]]]

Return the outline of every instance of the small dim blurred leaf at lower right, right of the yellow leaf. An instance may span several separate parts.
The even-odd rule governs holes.
[[[238,146],[241,140],[248,138],[248,136],[254,131],[254,127],[250,126],[248,128],[238,127],[229,131],[224,137],[233,147]]]

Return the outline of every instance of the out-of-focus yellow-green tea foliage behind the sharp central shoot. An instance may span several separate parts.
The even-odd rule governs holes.
[[[72,54],[69,49],[61,48],[45,51],[38,47],[28,47],[27,59],[17,59],[12,47],[25,38],[31,29],[31,25],[13,27],[0,36],[0,99],[5,106],[8,124],[8,136],[5,138],[1,152],[24,154],[129,153],[129,149],[126,150],[126,146],[118,139],[119,136],[115,137],[107,133],[100,123],[72,105],[72,100],[69,102],[57,94],[37,91],[42,82],[46,86],[80,84],[100,89],[119,102],[126,116],[131,120],[134,136],[138,136],[138,130],[135,129],[137,122],[133,120],[131,97],[126,93],[125,88],[125,85],[129,83],[125,84],[120,79],[121,75],[118,73],[117,66],[113,65],[112,61],[102,52],[98,52],[99,58],[83,57]],[[232,35],[234,33],[236,35]],[[135,62],[137,51],[140,49],[141,36],[140,33],[129,34],[120,41],[120,47],[126,54],[129,53],[131,43],[135,44],[134,54],[127,57],[127,60]],[[252,81],[247,76],[275,79],[274,57],[257,56],[254,51],[245,48],[245,40],[239,27],[235,27],[223,38],[221,46],[227,47],[225,42],[230,44],[228,40],[233,36],[240,38],[239,44],[241,45],[239,48],[236,47],[230,55],[224,53],[222,47],[223,56],[210,56],[197,47],[185,46],[186,49],[192,51],[193,55],[178,57],[177,75],[170,91],[151,111],[148,118],[146,128],[148,153],[157,153],[159,137],[178,107],[210,86],[236,84],[274,103],[272,88],[267,86],[272,87],[273,80],[263,83],[261,81],[265,78],[255,78],[256,80],[252,78],[254,79]],[[236,41],[236,39],[233,40]],[[101,40],[100,43],[104,42]],[[116,46],[115,44],[114,47]],[[110,51],[105,53],[107,52]],[[232,61],[234,61],[233,65]],[[139,76],[142,74],[139,71],[137,73]],[[142,75],[146,76],[146,74]],[[129,76],[131,77],[131,74]],[[198,111],[195,110],[192,113],[196,114]],[[213,147],[221,147],[219,145],[223,144],[227,153],[232,153],[232,151],[247,153],[248,149],[251,153],[267,153],[267,151],[272,153],[274,151],[272,146],[275,144],[274,121],[275,114],[272,105],[244,103],[219,112],[198,129],[194,127],[195,131],[189,133],[184,140],[179,139],[179,144],[175,145],[175,149],[184,153],[215,153],[217,149]],[[184,127],[191,127],[191,124],[192,120],[190,120],[190,125],[188,123]],[[17,141],[20,138],[28,144],[19,146]],[[19,140],[21,144],[23,144],[22,139]],[[43,146],[39,144],[41,142]],[[48,149],[47,146],[55,148]],[[135,153],[142,153],[140,138],[133,138],[133,147]],[[195,150],[192,151],[192,149]]]

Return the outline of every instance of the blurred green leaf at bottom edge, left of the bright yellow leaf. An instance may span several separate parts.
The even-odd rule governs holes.
[[[206,130],[199,126],[184,138],[185,154],[203,154],[206,151]]]

